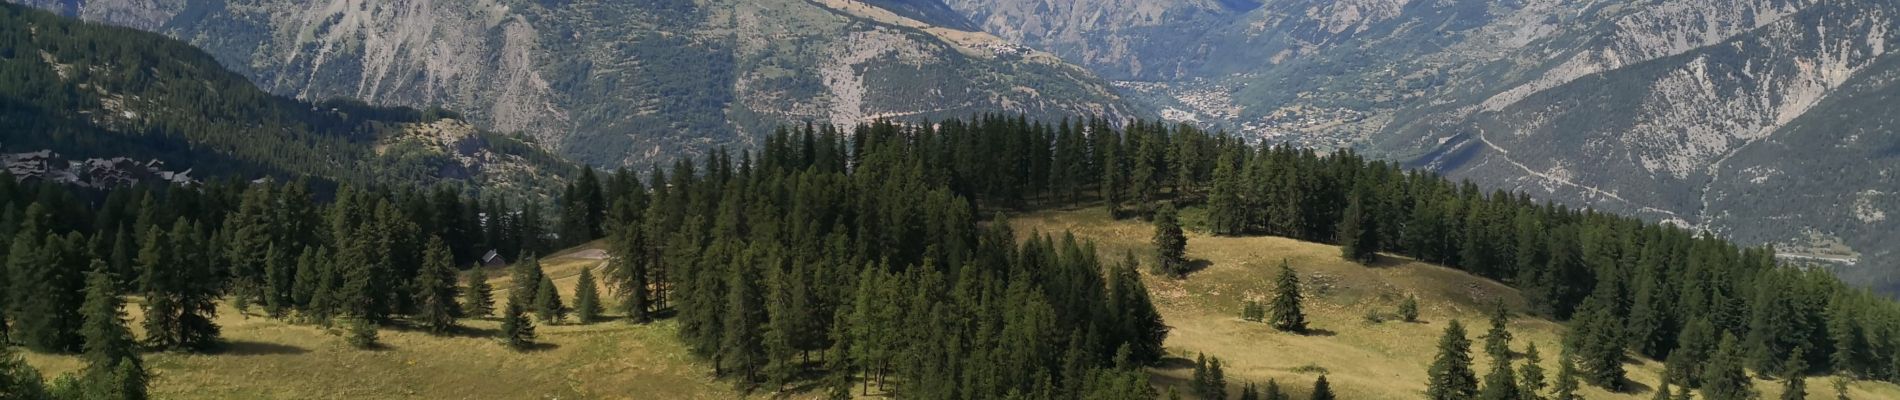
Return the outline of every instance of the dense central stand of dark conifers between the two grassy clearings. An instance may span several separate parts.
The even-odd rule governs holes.
[[[823,372],[904,398],[1151,398],[1138,366],[1167,326],[1132,254],[978,224],[929,152],[952,138],[804,129],[678,161],[606,191],[602,279],[633,320],[676,311],[741,385]]]

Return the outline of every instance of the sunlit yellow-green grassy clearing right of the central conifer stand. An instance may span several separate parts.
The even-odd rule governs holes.
[[[1013,220],[1018,233],[1074,231],[1092,239],[1108,260],[1123,252],[1138,258],[1151,254],[1153,227],[1138,220],[1110,220],[1100,209],[1036,212]],[[1188,235],[1188,258],[1205,262],[1206,269],[1184,281],[1146,277],[1155,305],[1174,330],[1168,334],[1168,353],[1176,360],[1151,368],[1153,381],[1176,385],[1184,394],[1191,377],[1191,360],[1199,353],[1220,356],[1227,373],[1229,392],[1252,381],[1265,385],[1279,379],[1296,398],[1311,391],[1313,370],[1326,370],[1340,398],[1419,398],[1425,391],[1425,368],[1436,355],[1438,336],[1450,320],[1461,320],[1474,343],[1488,330],[1484,307],[1503,300],[1516,317],[1510,322],[1512,349],[1522,353],[1537,343],[1543,366],[1556,373],[1556,355],[1562,349],[1564,326],[1524,315],[1524,300],[1499,282],[1467,275],[1457,269],[1385,256],[1366,267],[1340,258],[1330,245],[1302,243],[1281,237],[1208,237]],[[1286,260],[1300,273],[1305,294],[1305,313],[1319,334],[1281,334],[1262,322],[1241,320],[1244,300],[1265,301],[1271,277]],[[1368,311],[1396,313],[1406,296],[1417,296],[1419,322],[1368,322]],[[1480,377],[1490,360],[1472,349]],[[1518,360],[1522,364],[1522,360]],[[1586,389],[1586,398],[1649,398],[1662,366],[1642,360],[1628,366],[1636,392],[1606,392]],[[1163,389],[1165,391],[1165,389]],[[1780,383],[1761,381],[1765,396],[1778,396]],[[1832,398],[1830,377],[1809,381],[1811,398]],[[1900,387],[1889,383],[1854,383],[1854,398],[1900,398]]]

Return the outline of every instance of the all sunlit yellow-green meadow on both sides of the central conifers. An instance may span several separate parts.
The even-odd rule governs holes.
[[[1144,254],[1151,227],[1142,222],[1106,218],[1100,209],[1036,212],[1011,220],[1018,235],[1032,231],[1074,231],[1094,241],[1106,260],[1123,252]],[[1279,237],[1206,237],[1189,233],[1189,260],[1205,269],[1184,281],[1148,277],[1148,288],[1165,320],[1172,326],[1167,347],[1172,355],[1151,368],[1157,387],[1178,387],[1184,394],[1199,353],[1226,362],[1227,381],[1265,385],[1277,379],[1296,398],[1305,398],[1319,377],[1328,373],[1340,398],[1381,400],[1419,398],[1425,366],[1444,324],[1463,320],[1482,336],[1482,305],[1493,298],[1522,309],[1516,290],[1402,258],[1364,267],[1340,260],[1328,245]],[[1313,336],[1279,334],[1260,322],[1239,318],[1248,298],[1265,300],[1269,277],[1281,260],[1300,273],[1307,296],[1305,311]],[[580,248],[543,260],[564,298],[574,294],[576,275],[598,267],[598,250]],[[492,284],[496,298],[511,286],[502,271]],[[1368,313],[1393,313],[1400,300],[1417,296],[1421,322],[1368,322]],[[137,300],[135,300],[137,301]],[[129,309],[137,320],[137,307]],[[382,330],[384,349],[359,351],[317,326],[287,324],[239,315],[224,305],[218,315],[230,349],[217,355],[146,355],[156,372],[156,398],[741,398],[728,381],[711,377],[711,364],[694,358],[676,339],[671,320],[635,326],[625,322],[538,326],[545,345],[515,353],[494,339],[494,318],[464,320],[464,336],[437,337],[410,330]],[[133,324],[137,330],[137,322]],[[1537,343],[1545,370],[1556,372],[1564,328],[1543,318],[1512,320],[1512,349]],[[1476,370],[1488,370],[1476,355]],[[48,375],[72,372],[74,356],[27,355]],[[1642,360],[1630,366],[1636,392],[1586,389],[1586,398],[1649,398],[1662,366]],[[1780,385],[1761,381],[1767,398]],[[1165,389],[1163,389],[1165,391]],[[1834,398],[1830,377],[1811,377],[1809,398]],[[1229,389],[1239,392],[1239,387]],[[768,396],[766,392],[754,392]],[[817,392],[794,398],[817,398]],[[1889,383],[1852,383],[1852,398],[1900,398]]]

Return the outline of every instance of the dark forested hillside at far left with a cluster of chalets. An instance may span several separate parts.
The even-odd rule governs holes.
[[[215,178],[511,190],[572,169],[448,112],[276,97],[158,34],[11,4],[0,4],[0,140],[8,152],[160,159]]]

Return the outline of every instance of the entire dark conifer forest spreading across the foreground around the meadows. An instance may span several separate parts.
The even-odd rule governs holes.
[[[120,190],[91,203],[61,186],[0,188],[8,214],[21,216],[6,226],[10,337],[55,353],[99,345],[80,326],[101,317],[70,296],[91,269],[118,277],[95,290],[144,294],[152,349],[217,349],[205,322],[220,298],[346,326],[342,336],[370,349],[378,324],[454,334],[460,317],[498,313],[494,336],[532,351],[534,324],[598,320],[612,307],[629,322],[671,318],[714,375],[747,391],[1151,398],[1138,366],[1165,355],[1168,326],[1138,273],[1182,277],[1193,264],[1170,260],[1180,252],[1102,262],[1074,237],[980,224],[1013,209],[1106,203],[1163,226],[1186,207],[1220,235],[1341,243],[1349,260],[1404,254],[1507,282],[1531,313],[1569,322],[1560,360],[1575,364],[1573,377],[1611,391],[1642,391],[1626,385],[1632,355],[1666,360],[1670,385],[1712,398],[1727,398],[1720,392],[1735,387],[1723,379],[1742,368],[1900,373],[1900,307],[1767,250],[1486,193],[1351,152],[1258,148],[1157,123],[1115,131],[988,116],[781,131],[756,155],[714,152],[646,176],[587,171],[562,190],[559,235],[532,231],[534,207],[484,209],[452,191],[344,190],[323,205],[296,184],[234,184]],[[595,237],[606,237],[608,264],[581,286],[598,279],[610,290],[562,298],[534,254]],[[1157,237],[1168,243],[1182,241]],[[456,265],[505,246],[524,260],[496,307],[486,279],[458,284]]]

